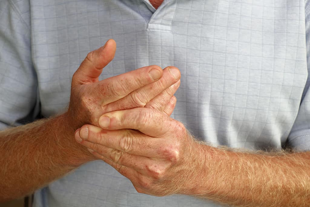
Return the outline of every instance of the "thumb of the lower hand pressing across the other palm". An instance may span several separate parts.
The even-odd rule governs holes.
[[[151,137],[164,137],[171,129],[184,130],[176,120],[160,111],[144,107],[106,113],[99,118],[98,124],[108,130],[137,129]]]

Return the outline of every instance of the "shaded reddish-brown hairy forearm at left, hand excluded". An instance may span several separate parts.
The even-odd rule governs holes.
[[[27,195],[92,158],[65,115],[0,132],[0,201]]]

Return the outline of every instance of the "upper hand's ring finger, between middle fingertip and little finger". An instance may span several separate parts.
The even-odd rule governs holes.
[[[158,94],[152,100],[148,101],[148,103],[144,107],[164,111],[166,105],[169,104],[171,97],[173,97],[173,94],[175,94],[179,86],[180,80],[163,92],[161,92],[160,94]]]

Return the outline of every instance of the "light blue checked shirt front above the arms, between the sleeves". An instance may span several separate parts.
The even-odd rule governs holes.
[[[175,65],[182,78],[173,117],[195,135],[285,137],[307,78],[302,0],[166,0],[156,11],[138,2],[68,1],[44,7],[44,18],[32,14],[44,115],[67,106],[72,74],[114,38],[115,58],[100,78]]]

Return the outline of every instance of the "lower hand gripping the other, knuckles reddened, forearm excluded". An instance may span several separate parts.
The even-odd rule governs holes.
[[[138,192],[166,196],[197,187],[203,153],[182,123],[158,110],[133,108],[106,113],[99,124],[82,126],[76,140],[130,179]]]

